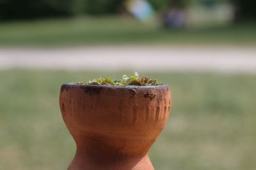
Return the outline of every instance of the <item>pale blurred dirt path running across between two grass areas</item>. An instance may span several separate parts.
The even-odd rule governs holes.
[[[214,71],[256,73],[256,48],[108,46],[0,48],[0,69]]]

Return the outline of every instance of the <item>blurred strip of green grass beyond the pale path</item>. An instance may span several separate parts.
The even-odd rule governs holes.
[[[256,45],[256,24],[163,30],[129,17],[0,23],[0,46]]]

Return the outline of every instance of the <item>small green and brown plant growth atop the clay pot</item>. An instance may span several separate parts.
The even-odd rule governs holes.
[[[84,81],[79,82],[78,84],[81,85],[120,85],[120,86],[126,86],[126,85],[141,85],[141,86],[147,86],[147,85],[161,85],[162,83],[159,83],[156,79],[150,79],[146,76],[139,76],[137,72],[132,74],[130,77],[127,75],[123,75],[122,80],[111,80],[109,76],[106,76],[104,78],[97,78],[93,79],[92,81]]]

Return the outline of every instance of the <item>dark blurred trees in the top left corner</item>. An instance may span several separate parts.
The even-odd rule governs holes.
[[[0,0],[0,20],[118,13],[124,0]]]

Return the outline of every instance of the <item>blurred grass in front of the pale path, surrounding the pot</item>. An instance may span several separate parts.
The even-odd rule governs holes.
[[[60,85],[105,74],[0,71],[0,169],[66,169],[76,147],[61,118]],[[157,170],[256,169],[255,75],[147,75],[173,95],[170,121],[150,150]]]

